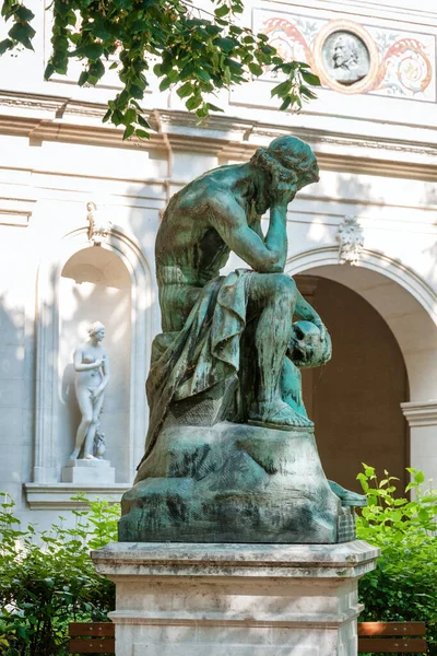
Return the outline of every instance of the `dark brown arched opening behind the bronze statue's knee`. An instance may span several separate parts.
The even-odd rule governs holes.
[[[304,370],[304,400],[328,478],[361,491],[362,462],[406,483],[409,399],[401,349],[381,315],[358,293],[320,276],[296,282],[326,323],[333,342],[323,368]]]

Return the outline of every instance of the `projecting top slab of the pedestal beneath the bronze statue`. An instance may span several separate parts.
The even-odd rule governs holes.
[[[341,578],[374,569],[379,549],[363,540],[338,544],[217,544],[113,542],[92,552],[109,578],[131,576],[244,576]]]

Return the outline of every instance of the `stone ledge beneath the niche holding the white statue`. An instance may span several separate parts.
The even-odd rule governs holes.
[[[71,501],[76,494],[86,494],[91,501],[97,499],[118,503],[130,485],[128,483],[113,484],[78,484],[78,483],[24,483],[23,484],[28,506],[32,509],[73,509],[85,507]]]

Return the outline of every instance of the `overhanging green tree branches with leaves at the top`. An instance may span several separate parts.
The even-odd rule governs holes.
[[[0,55],[17,44],[33,49],[34,13],[19,0],[2,0],[1,7],[12,26]],[[199,119],[221,110],[211,94],[257,78],[265,67],[281,74],[272,96],[283,110],[299,110],[316,97],[309,86],[320,84],[307,63],[285,61],[264,34],[238,25],[243,0],[211,0],[208,10],[191,0],[54,0],[50,8],[55,21],[46,79],[67,74],[71,58],[84,63],[80,85],[95,85],[116,69],[122,89],[109,101],[104,121],[125,126],[125,139],[149,137],[140,102],[152,74],[161,80],[161,91],[175,86]]]

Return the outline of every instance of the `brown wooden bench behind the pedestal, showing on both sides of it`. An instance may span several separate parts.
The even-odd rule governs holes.
[[[426,654],[425,622],[361,622],[359,654]],[[69,624],[70,654],[115,654],[111,622]],[[382,637],[381,637],[382,636]]]

